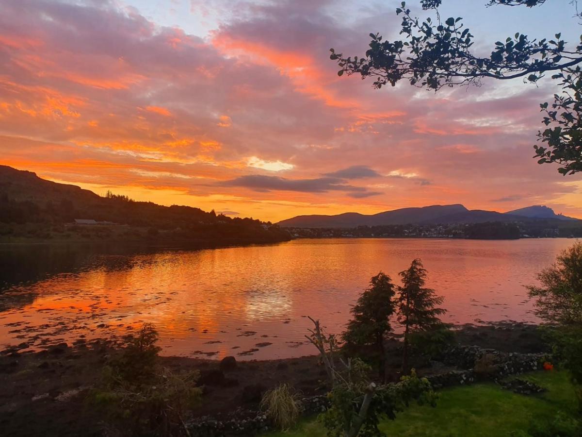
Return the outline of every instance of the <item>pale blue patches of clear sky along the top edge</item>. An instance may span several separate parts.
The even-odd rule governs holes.
[[[120,0],[126,5],[133,6],[140,13],[161,26],[180,27],[186,33],[200,37],[208,36],[211,30],[217,29],[220,22],[236,17],[236,0],[200,1],[194,0]],[[274,0],[274,4],[278,1]],[[517,31],[526,33],[530,37],[553,38],[555,33],[561,32],[562,37],[571,43],[579,41],[582,27],[580,19],[574,17],[576,9],[570,0],[550,0],[535,8],[524,6],[491,6],[485,7],[487,0],[443,0],[440,8],[441,17],[461,16],[463,22],[471,29],[476,39],[485,41],[505,41],[508,36],[513,36]],[[264,3],[264,1],[262,1]],[[428,16],[428,13],[420,9],[420,2],[411,0],[407,2],[413,12],[418,16]],[[229,8],[228,5],[232,5]],[[381,15],[392,13],[400,6],[399,1],[361,2],[357,0],[341,0],[336,3],[328,3],[324,10],[336,19],[345,19],[353,22],[354,19],[365,19],[367,13]],[[384,13],[382,13],[384,12]],[[434,13],[431,12],[434,16]],[[343,17],[343,18],[342,18]],[[390,27],[393,20],[389,20]],[[371,29],[373,30],[373,29]],[[370,31],[371,31],[370,30]],[[396,29],[378,29],[388,36],[396,37]],[[391,32],[392,30],[392,32]],[[362,29],[363,35],[368,29]]]

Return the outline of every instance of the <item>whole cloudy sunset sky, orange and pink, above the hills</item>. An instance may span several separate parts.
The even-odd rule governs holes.
[[[445,203],[582,217],[582,175],[532,158],[551,80],[435,94],[336,75],[329,48],[397,38],[399,3],[2,0],[0,164],[270,221]],[[582,33],[569,0],[485,3],[441,10],[464,17],[475,52],[517,31]]]

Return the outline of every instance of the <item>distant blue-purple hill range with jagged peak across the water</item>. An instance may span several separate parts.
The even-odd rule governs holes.
[[[358,226],[384,226],[404,224],[455,224],[455,223],[487,223],[487,222],[518,222],[535,220],[577,220],[553,214],[553,216],[535,216],[538,207],[533,208],[531,216],[514,212],[499,213],[496,211],[468,210],[463,205],[433,205],[419,208],[403,208],[378,214],[365,215],[345,213],[337,216],[297,216],[279,221],[282,227],[290,228],[356,228]],[[542,207],[545,208],[545,207]],[[528,210],[524,208],[523,210]],[[520,212],[522,210],[516,210]],[[526,211],[527,212],[527,211]]]

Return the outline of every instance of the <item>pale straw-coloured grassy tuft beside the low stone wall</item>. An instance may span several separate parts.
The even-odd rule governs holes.
[[[267,413],[267,417],[281,428],[289,429],[299,417],[299,396],[293,387],[282,384],[269,390],[261,400],[261,410]]]

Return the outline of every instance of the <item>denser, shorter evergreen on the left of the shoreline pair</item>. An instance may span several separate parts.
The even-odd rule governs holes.
[[[396,287],[391,278],[380,272],[370,280],[370,287],[361,295],[351,312],[353,319],[342,334],[347,344],[373,346],[379,356],[379,375],[386,378],[384,336],[392,327],[390,317],[396,311]]]

